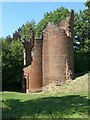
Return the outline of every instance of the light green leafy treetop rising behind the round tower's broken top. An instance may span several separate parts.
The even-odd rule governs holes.
[[[46,12],[44,14],[44,18],[36,26],[36,37],[39,37],[41,35],[41,32],[46,28],[49,22],[58,23],[68,17],[69,14],[70,12],[68,9],[64,7],[61,7],[50,13]]]

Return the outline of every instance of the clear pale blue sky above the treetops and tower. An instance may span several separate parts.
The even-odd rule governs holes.
[[[1,3],[0,3],[1,6]],[[83,2],[2,2],[2,32],[0,37],[13,35],[15,30],[33,19],[38,23],[45,12],[56,10],[59,7],[75,9],[75,11],[85,8]]]

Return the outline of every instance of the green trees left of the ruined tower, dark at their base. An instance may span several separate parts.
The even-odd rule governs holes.
[[[30,29],[35,31],[35,21],[27,22],[25,25],[19,27],[18,30],[13,33],[13,37],[7,36],[2,41],[2,75],[3,75],[3,88],[6,86],[15,85],[20,83],[20,78],[23,74],[23,48],[21,38],[26,36],[26,39],[30,38]]]

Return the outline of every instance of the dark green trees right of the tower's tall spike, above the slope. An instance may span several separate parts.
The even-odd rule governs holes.
[[[85,10],[75,14],[75,72],[90,70],[90,2]]]

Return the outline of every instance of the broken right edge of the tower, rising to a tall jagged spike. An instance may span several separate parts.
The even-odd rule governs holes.
[[[74,12],[71,11],[70,17],[59,23],[59,28],[66,31],[68,37],[68,59],[66,61],[66,80],[74,78],[74,54],[73,54],[73,39],[74,39]]]

